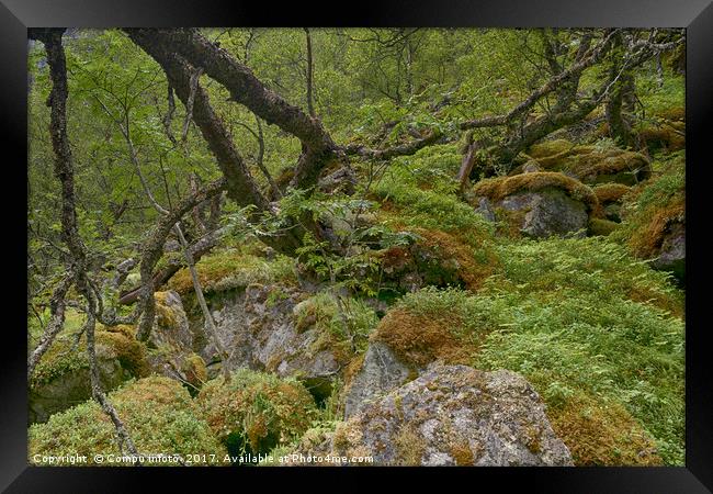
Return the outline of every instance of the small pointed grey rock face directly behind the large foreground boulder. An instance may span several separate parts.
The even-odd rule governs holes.
[[[364,362],[354,375],[344,397],[344,417],[349,418],[370,400],[404,384],[409,377],[409,369],[399,361],[394,352],[381,341],[373,341],[364,353]]]

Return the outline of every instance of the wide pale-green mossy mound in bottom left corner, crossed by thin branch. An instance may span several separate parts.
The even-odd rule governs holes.
[[[188,391],[177,381],[150,377],[128,383],[109,394],[140,454],[216,454],[223,460],[225,448],[217,441]],[[126,451],[123,451],[127,454]],[[94,401],[53,415],[46,424],[30,427],[29,459],[42,464],[42,456],[103,454],[104,465],[131,465],[110,462],[120,457],[114,425]],[[39,457],[36,457],[39,456]],[[177,463],[149,463],[177,465]],[[200,461],[197,464],[202,464]]]

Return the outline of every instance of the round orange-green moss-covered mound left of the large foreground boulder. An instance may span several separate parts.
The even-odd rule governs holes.
[[[267,453],[307,430],[317,417],[309,392],[294,379],[240,369],[208,381],[197,403],[231,453]]]

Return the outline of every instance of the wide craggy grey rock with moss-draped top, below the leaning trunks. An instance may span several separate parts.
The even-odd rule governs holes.
[[[364,350],[376,326],[375,311],[362,300],[330,291],[308,293],[281,284],[251,284],[212,297],[218,337],[229,370],[250,368],[308,383],[319,400],[331,392],[340,370]],[[202,350],[214,360],[210,341]],[[210,366],[210,375],[217,375]]]

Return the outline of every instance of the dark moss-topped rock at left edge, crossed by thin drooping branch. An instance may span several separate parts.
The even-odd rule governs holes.
[[[147,375],[149,366],[144,345],[131,326],[97,328],[97,364],[100,380],[113,390],[131,378]],[[68,334],[58,336],[35,368],[29,390],[29,422],[45,422],[57,412],[91,397],[87,340],[78,345]]]

